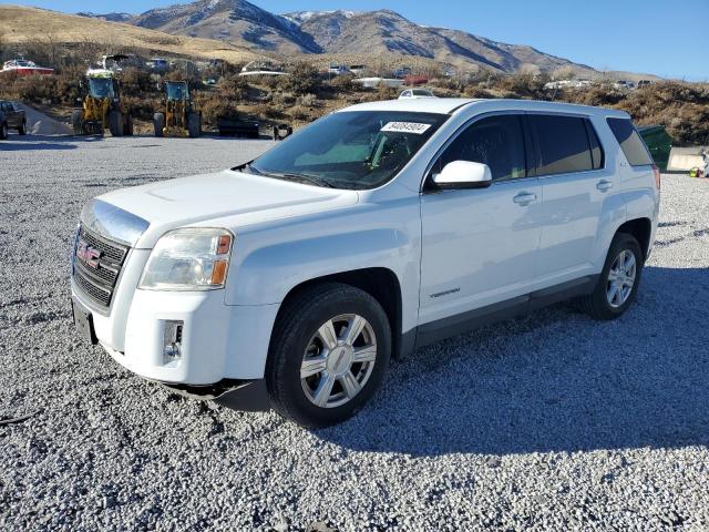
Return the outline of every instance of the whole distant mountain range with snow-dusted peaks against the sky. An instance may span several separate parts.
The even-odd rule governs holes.
[[[270,13],[246,0],[197,0],[153,9],[129,23],[165,33],[217,39],[279,54],[403,54],[456,68],[484,66],[501,72],[533,68],[552,72],[593,69],[531,47],[505,44],[460,30],[417,24],[389,10]]]

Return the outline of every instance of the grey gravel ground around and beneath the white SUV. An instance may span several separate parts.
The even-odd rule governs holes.
[[[182,399],[81,341],[68,247],[105,191],[265,141],[0,143],[0,529],[709,530],[709,181],[666,176],[637,305],[566,306],[394,364],[351,421]]]

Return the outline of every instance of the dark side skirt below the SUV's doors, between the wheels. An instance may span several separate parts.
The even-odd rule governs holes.
[[[475,308],[463,314],[420,325],[403,334],[402,355],[413,352],[420,347],[435,344],[453,336],[506,319],[524,316],[533,310],[594,291],[599,275],[589,275],[561,285],[517,296],[501,303]],[[405,348],[409,349],[405,349]]]

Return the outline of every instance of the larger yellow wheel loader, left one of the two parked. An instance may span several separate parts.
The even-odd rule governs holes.
[[[83,85],[83,84],[82,84]],[[113,136],[133,134],[133,116],[121,98],[113,71],[91,69],[86,72],[86,95],[82,108],[71,114],[71,124],[78,135],[103,135],[110,130]]]

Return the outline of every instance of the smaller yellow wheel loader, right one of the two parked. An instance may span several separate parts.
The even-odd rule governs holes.
[[[155,136],[188,136],[202,134],[202,113],[197,111],[184,81],[163,84],[163,109],[153,115]]]

